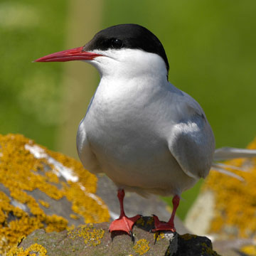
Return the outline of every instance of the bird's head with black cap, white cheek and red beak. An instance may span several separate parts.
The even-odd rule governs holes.
[[[168,76],[169,72],[169,63],[161,42],[154,33],[137,24],[105,28],[85,46],[46,55],[35,62],[70,60],[91,63],[103,76]]]

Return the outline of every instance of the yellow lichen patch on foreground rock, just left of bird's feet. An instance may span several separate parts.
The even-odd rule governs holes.
[[[94,228],[90,223],[89,225],[82,225],[79,229],[68,231],[68,236],[71,239],[83,238],[85,245],[97,246],[100,245],[101,239],[104,236],[105,231]]]

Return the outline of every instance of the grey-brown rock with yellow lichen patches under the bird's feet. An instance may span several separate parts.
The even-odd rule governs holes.
[[[60,233],[36,230],[18,247],[12,248],[8,256],[18,256],[22,252],[32,254],[38,250],[43,250],[48,256],[218,256],[206,237],[161,233],[156,238],[156,234],[149,233],[154,228],[151,217],[138,220],[133,229],[134,242],[124,233],[116,233],[111,238],[109,225],[87,224]]]

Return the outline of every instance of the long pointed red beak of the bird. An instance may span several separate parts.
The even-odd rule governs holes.
[[[83,47],[73,48],[70,50],[63,50],[58,53],[52,53],[42,58],[38,58],[33,62],[53,62],[53,61],[70,61],[70,60],[93,60],[98,56],[97,53],[82,51]]]

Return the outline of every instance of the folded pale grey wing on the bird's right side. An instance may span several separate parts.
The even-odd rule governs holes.
[[[201,106],[185,92],[176,109],[181,119],[172,126],[169,150],[188,176],[205,178],[213,162],[213,131]]]

